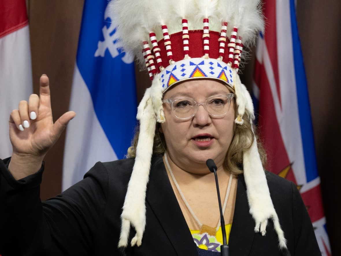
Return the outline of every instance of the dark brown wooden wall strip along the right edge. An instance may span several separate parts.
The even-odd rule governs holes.
[[[340,110],[341,1],[297,1],[317,168],[333,255],[341,255]]]

